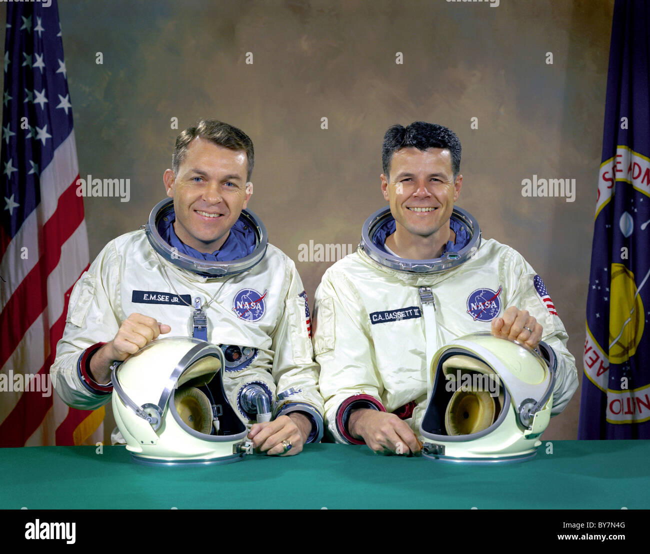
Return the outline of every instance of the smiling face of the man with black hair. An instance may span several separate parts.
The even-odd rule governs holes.
[[[463,183],[461,175],[454,179],[449,150],[397,150],[391,159],[390,175],[382,174],[381,179],[397,235],[407,241],[430,237],[446,242],[449,218]]]

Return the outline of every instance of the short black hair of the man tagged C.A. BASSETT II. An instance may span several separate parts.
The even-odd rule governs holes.
[[[382,168],[383,174],[388,177],[393,154],[402,148],[447,148],[451,153],[451,168],[454,179],[460,172],[460,140],[456,133],[447,127],[435,123],[415,121],[404,127],[393,125],[383,135]]]

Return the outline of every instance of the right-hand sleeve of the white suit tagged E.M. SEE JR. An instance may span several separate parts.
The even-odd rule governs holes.
[[[272,336],[273,377],[277,401],[275,417],[301,412],[311,420],[307,442],[320,442],[323,434],[323,399],[318,389],[318,364],[311,345],[307,295],[293,261],[286,258],[287,295]]]

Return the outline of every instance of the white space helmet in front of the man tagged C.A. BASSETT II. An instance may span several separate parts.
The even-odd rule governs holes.
[[[551,419],[556,372],[552,349],[542,342],[539,350],[481,332],[435,352],[423,455],[474,464],[534,458]]]

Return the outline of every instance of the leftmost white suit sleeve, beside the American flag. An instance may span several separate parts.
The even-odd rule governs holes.
[[[72,289],[50,375],[61,399],[73,408],[95,410],[110,400],[112,386],[93,380],[90,359],[120,328],[114,310],[119,282],[120,257],[110,242]]]

